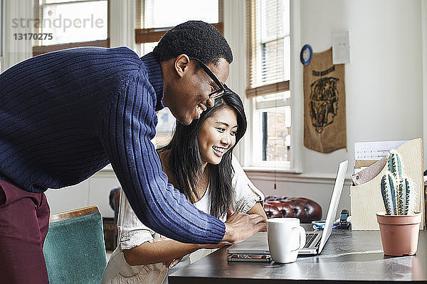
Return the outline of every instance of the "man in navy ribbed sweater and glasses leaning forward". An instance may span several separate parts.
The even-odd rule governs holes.
[[[176,26],[153,53],[75,48],[25,60],[0,75],[0,283],[48,283],[43,241],[48,188],[75,185],[112,164],[137,217],[195,244],[236,242],[265,230],[258,215],[225,224],[167,182],[150,140],[155,111],[184,124],[223,93],[233,60],[216,29]]]

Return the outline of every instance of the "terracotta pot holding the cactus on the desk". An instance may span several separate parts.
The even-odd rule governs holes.
[[[421,212],[413,215],[386,215],[376,212],[384,254],[412,256],[418,246]]]

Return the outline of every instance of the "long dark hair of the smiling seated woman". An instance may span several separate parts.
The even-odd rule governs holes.
[[[227,209],[231,208],[231,200],[233,198],[231,179],[234,173],[233,166],[231,165],[231,153],[246,132],[247,126],[243,102],[238,97],[238,94],[231,91],[231,89],[226,89],[223,97],[216,99],[214,107],[206,109],[199,119],[194,120],[189,125],[183,125],[176,121],[172,140],[167,146],[159,149],[159,152],[170,150],[169,168],[176,182],[175,187],[184,193],[187,200],[191,203],[196,202],[195,197],[199,198],[196,192],[196,185],[203,174],[199,150],[199,131],[204,121],[223,107],[230,107],[236,112],[238,129],[236,143],[223,155],[221,162],[218,165],[210,163],[206,165],[206,169],[209,169],[210,173],[210,213],[218,218],[223,217]]]

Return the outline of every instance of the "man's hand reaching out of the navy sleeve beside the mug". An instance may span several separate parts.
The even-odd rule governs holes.
[[[226,221],[226,234],[223,241],[238,243],[258,231],[267,231],[267,220],[258,214],[243,214],[240,212],[232,214]]]

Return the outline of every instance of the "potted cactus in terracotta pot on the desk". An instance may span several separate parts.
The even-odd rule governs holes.
[[[384,254],[405,256],[416,253],[421,212],[413,211],[414,185],[403,170],[396,150],[388,157],[388,170],[381,178],[381,195],[385,212],[376,212]]]

